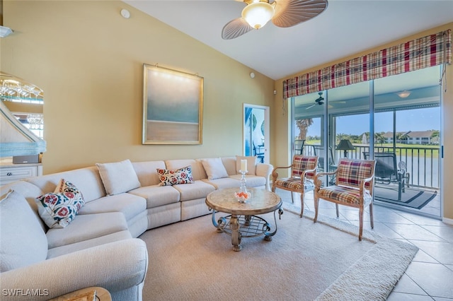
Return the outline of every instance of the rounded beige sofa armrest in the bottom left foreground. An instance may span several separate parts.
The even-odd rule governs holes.
[[[142,240],[110,242],[0,273],[1,296],[48,300],[90,286],[114,295],[143,283],[147,266],[147,246]],[[129,300],[134,299],[138,298]]]

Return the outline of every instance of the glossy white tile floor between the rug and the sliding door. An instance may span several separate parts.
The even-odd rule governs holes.
[[[291,203],[289,191],[277,189],[276,193],[284,202]],[[300,208],[299,195],[294,194],[294,205]],[[312,191],[305,196],[304,208],[314,211]],[[373,231],[405,240],[419,249],[388,300],[453,300],[453,225],[376,203],[373,208]],[[320,200],[319,214],[336,218],[335,204]],[[340,220],[358,226],[358,210],[340,206]],[[372,230],[368,210],[364,214],[364,229]]]

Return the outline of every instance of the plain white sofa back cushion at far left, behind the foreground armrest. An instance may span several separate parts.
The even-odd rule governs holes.
[[[0,199],[0,272],[47,258],[47,237],[25,197],[9,191]]]

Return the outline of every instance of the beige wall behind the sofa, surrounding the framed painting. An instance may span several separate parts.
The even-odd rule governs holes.
[[[1,70],[45,93],[45,174],[241,155],[243,102],[273,110],[273,80],[120,1],[4,1],[4,24]],[[142,145],[144,63],[205,78],[202,145]]]

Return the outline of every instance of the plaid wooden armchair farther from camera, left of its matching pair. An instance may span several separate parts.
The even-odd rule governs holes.
[[[291,191],[291,199],[294,203],[293,192],[299,192],[301,211],[300,217],[304,214],[304,193],[314,190],[314,176],[318,166],[318,156],[316,155],[294,155],[292,165],[285,167],[275,167],[272,172],[272,191],[276,188]],[[291,177],[278,178],[279,169],[291,169]]]

